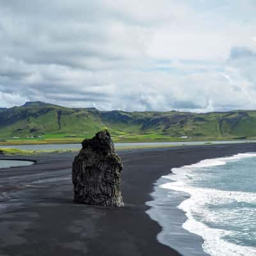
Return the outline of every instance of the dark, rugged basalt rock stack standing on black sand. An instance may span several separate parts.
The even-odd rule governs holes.
[[[123,164],[115,153],[108,130],[82,142],[72,166],[74,201],[82,204],[123,206],[120,180]]]

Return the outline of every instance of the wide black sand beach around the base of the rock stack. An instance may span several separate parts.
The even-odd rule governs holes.
[[[120,209],[73,203],[75,154],[24,157],[36,164],[0,170],[0,255],[179,255],[157,241],[161,227],[145,212],[154,182],[173,167],[255,151],[255,143],[244,143],[119,152],[125,202]]]

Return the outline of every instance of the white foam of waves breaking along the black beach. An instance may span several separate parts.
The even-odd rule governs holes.
[[[172,189],[189,193],[191,197],[179,205],[182,211],[186,212],[188,220],[182,225],[191,233],[202,236],[204,241],[203,248],[206,253],[212,256],[252,256],[256,255],[256,248],[251,246],[241,246],[229,243],[223,239],[230,234],[230,231],[218,228],[210,228],[204,223],[195,220],[195,213],[200,214],[200,218],[205,221],[212,221],[218,218],[218,215],[210,214],[205,204],[228,204],[232,202],[256,203],[255,193],[241,191],[221,191],[218,189],[195,188],[188,185],[189,179],[193,177],[195,168],[206,168],[226,164],[228,161],[237,161],[245,157],[255,157],[255,153],[237,154],[232,157],[221,157],[218,159],[206,159],[196,164],[173,168],[172,173],[176,175],[164,176],[165,179],[172,179],[174,182],[168,182],[161,185],[161,188]]]

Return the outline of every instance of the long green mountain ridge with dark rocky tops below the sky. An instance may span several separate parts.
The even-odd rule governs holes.
[[[44,102],[0,109],[0,138],[88,138],[108,127],[115,141],[256,138],[256,111],[99,111]],[[188,138],[181,138],[188,137]]]

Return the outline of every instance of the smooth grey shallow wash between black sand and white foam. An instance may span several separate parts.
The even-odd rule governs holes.
[[[177,250],[182,256],[209,256],[202,248],[204,239],[182,227],[188,218],[178,206],[190,198],[190,195],[159,187],[166,182],[172,182],[172,180],[164,178],[157,180],[155,190],[151,193],[154,199],[147,202],[147,205],[150,206],[147,214],[152,220],[157,221],[162,228],[161,232],[157,234],[157,241]],[[168,198],[168,202],[164,202],[166,198]],[[172,225],[167,226],[165,223],[172,223]],[[175,234],[175,237],[166,236],[168,232]]]

